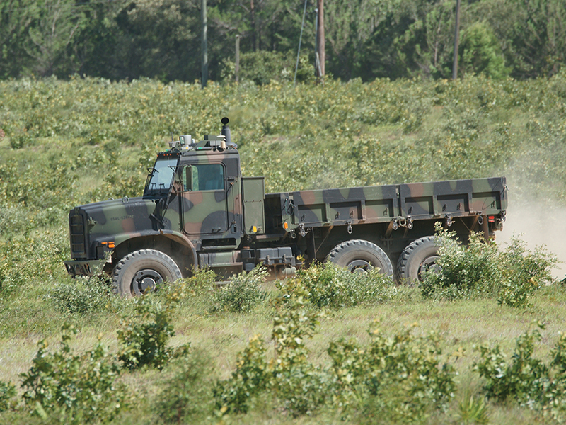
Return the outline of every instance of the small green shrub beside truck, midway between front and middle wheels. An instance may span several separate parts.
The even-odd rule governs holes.
[[[211,312],[250,312],[262,300],[266,293],[261,288],[267,270],[260,266],[249,273],[240,273],[230,278],[230,283],[212,294]]]

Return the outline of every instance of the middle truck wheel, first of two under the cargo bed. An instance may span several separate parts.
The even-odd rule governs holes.
[[[342,242],[335,246],[326,257],[326,261],[345,267],[352,273],[365,273],[377,267],[384,275],[393,276],[393,266],[385,251],[376,244],[361,239]]]

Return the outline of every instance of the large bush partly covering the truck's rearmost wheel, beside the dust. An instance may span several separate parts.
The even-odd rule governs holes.
[[[454,232],[441,229],[437,265],[421,285],[424,297],[445,299],[495,297],[499,304],[527,307],[533,293],[552,282],[551,268],[557,263],[543,246],[534,252],[524,242],[512,239],[503,251],[495,242],[485,242],[481,234],[470,234],[466,246]]]

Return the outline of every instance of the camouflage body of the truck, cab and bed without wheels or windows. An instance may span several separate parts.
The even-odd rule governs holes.
[[[433,234],[434,222],[455,223],[462,239],[480,230],[488,237],[502,227],[507,209],[504,177],[265,194],[262,178],[242,179],[236,149],[204,140],[194,149],[161,152],[160,159],[176,164],[168,192],[146,186],[139,198],[71,210],[70,274],[92,275],[135,249],[158,246],[185,263],[184,271],[240,271],[246,261],[260,262],[253,250],[275,246],[289,246],[310,262],[350,239],[374,242],[395,261],[410,242]],[[187,187],[185,174],[203,164],[221,167],[224,187]]]

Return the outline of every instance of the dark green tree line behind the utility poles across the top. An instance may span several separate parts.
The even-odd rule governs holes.
[[[1,0],[0,78],[201,77],[200,0]],[[307,0],[299,80],[314,77]],[[304,0],[208,0],[208,78],[294,77]],[[456,0],[326,1],[326,72],[343,80],[450,78]],[[548,77],[566,62],[563,0],[462,0],[458,75]]]

